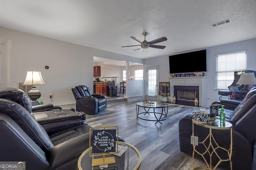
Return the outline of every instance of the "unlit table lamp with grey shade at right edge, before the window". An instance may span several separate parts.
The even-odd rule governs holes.
[[[256,84],[256,78],[255,78],[254,72],[242,73],[236,84],[244,84],[244,88],[242,88],[239,91],[239,94],[240,94],[240,96],[245,97],[246,94],[249,92],[248,84]]]

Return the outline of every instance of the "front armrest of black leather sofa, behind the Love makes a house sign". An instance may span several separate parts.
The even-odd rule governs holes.
[[[78,159],[82,152],[89,148],[89,143],[89,133],[85,133],[51,148],[49,152],[52,169],[58,168],[75,158]]]

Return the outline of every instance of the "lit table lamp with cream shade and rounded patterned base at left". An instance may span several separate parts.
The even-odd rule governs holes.
[[[28,96],[32,101],[40,98],[41,93],[36,89],[36,84],[45,84],[40,71],[28,71],[27,77],[23,85],[32,85],[32,89],[28,92]]]

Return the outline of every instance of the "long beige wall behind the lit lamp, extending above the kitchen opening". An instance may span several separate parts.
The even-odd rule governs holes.
[[[93,89],[93,56],[144,64],[130,57],[0,27],[0,88],[17,88],[28,70],[38,70],[46,84],[37,85],[44,98],[54,105],[74,104],[71,88],[86,85]],[[49,69],[45,69],[49,66]]]

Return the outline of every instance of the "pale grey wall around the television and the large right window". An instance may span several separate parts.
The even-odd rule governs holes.
[[[205,106],[209,106],[212,102],[219,100],[218,90],[215,89],[216,81],[216,54],[233,52],[238,50],[248,50],[247,53],[247,70],[256,70],[256,39],[250,39],[246,41],[240,41],[236,43],[230,43],[225,45],[219,45],[215,47],[206,48],[207,55],[207,72],[204,79],[204,101]],[[193,51],[198,51],[196,49]],[[189,52],[189,51],[186,51]],[[173,54],[171,54],[173,55]],[[181,59],[182,62],[182,59]],[[159,65],[159,82],[168,82],[169,73],[169,57],[155,57],[152,59],[145,59],[144,69],[150,66]]]

